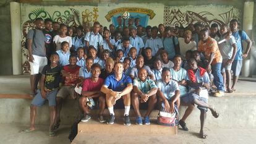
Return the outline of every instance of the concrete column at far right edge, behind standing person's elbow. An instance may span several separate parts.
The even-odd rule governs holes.
[[[254,1],[244,2],[244,17],[242,20],[242,30],[244,30],[247,35],[252,38],[252,25],[254,22]],[[247,44],[243,42],[244,51],[246,50]],[[249,77],[250,75],[250,54],[243,61],[242,76]]]

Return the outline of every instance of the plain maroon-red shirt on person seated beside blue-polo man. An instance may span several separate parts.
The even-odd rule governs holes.
[[[100,91],[104,80],[102,78],[98,78],[97,82],[93,82],[92,79],[86,78],[83,82],[83,89],[82,91]]]

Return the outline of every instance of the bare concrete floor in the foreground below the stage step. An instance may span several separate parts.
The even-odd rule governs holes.
[[[24,125],[0,125],[0,143],[1,144],[66,144],[70,143],[67,138],[69,135],[69,125],[61,126],[58,129],[56,137],[48,136],[48,125],[36,125],[37,130],[31,133],[19,133],[26,129]],[[115,136],[111,134],[100,135],[101,140],[95,139],[93,133],[82,137],[83,143],[255,143],[256,129],[206,129],[208,138],[203,140],[198,138],[198,127],[189,127],[190,131],[179,130],[178,135],[130,135]],[[109,138],[109,135],[111,137]],[[81,138],[80,138],[81,139]]]

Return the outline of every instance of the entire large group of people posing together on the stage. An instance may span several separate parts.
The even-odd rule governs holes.
[[[163,24],[143,28],[138,20],[134,25],[129,19],[128,27],[115,28],[111,24],[109,30],[95,22],[90,31],[89,27],[64,24],[58,28],[59,23],[36,19],[35,30],[27,35],[30,95],[35,98],[30,106],[30,129],[22,132],[35,130],[36,108],[48,100],[49,135],[54,136],[61,121],[62,100],[70,96],[79,98],[82,122],[92,117],[87,105],[89,99],[95,100],[100,109],[99,121],[107,124],[114,124],[114,105],[118,103],[124,104],[124,125],[130,125],[130,103],[138,125],[150,124],[151,111],[161,103],[166,112],[174,112],[175,105],[177,108],[188,106],[179,121],[183,130],[189,130],[185,121],[196,104],[201,112],[200,137],[207,138],[203,129],[207,110],[210,109],[214,117],[219,116],[208,104],[208,91],[211,90],[213,96],[223,96],[224,91],[235,90],[242,59],[249,53],[252,41],[244,31],[238,30],[237,20],[231,20],[230,30],[226,25],[218,30],[216,23],[210,30],[200,23],[187,28]],[[242,40],[247,42],[244,54]],[[41,77],[37,90],[38,74]],[[223,78],[224,75],[227,77]],[[74,92],[79,86],[81,95]],[[140,114],[143,103],[147,103],[144,116]],[[103,116],[106,107],[108,119]]]

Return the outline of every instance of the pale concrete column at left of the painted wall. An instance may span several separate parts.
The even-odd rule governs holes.
[[[10,2],[12,33],[12,74],[22,74],[20,3]]]

